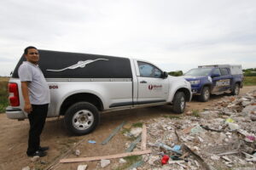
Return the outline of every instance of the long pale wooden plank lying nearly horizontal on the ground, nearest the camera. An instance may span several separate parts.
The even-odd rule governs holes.
[[[61,163],[71,163],[71,162],[79,162],[79,161],[96,161],[96,160],[103,160],[103,159],[114,159],[126,156],[139,156],[144,154],[150,154],[151,150],[142,150],[142,151],[133,151],[127,153],[121,153],[116,155],[110,156],[94,156],[94,157],[80,157],[80,158],[68,158],[68,159],[61,159]]]

